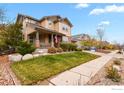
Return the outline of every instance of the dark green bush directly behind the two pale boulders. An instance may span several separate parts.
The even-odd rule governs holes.
[[[21,55],[25,55],[28,53],[32,53],[35,51],[35,47],[27,42],[21,41],[19,46],[17,47],[16,52],[20,53]]]

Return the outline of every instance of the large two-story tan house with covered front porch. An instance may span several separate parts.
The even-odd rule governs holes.
[[[41,19],[18,14],[17,23],[23,26],[24,40],[37,48],[57,47],[60,42],[71,42],[72,24],[67,18],[45,16]]]

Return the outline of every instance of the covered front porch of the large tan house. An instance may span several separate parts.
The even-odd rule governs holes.
[[[62,42],[61,33],[48,31],[46,29],[36,29],[28,35],[28,42],[33,43],[36,48],[59,47]]]

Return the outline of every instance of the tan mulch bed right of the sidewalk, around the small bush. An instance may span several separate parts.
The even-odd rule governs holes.
[[[120,59],[121,68],[124,67],[124,59]],[[113,64],[111,60],[108,64],[106,64],[89,82],[88,85],[124,85],[124,71],[119,72],[121,75],[120,82],[113,82],[111,79],[106,77],[106,67],[109,67]]]

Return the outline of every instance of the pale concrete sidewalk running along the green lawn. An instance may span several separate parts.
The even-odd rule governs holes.
[[[84,63],[49,79],[49,85],[86,85],[96,73],[109,62],[117,51]]]

